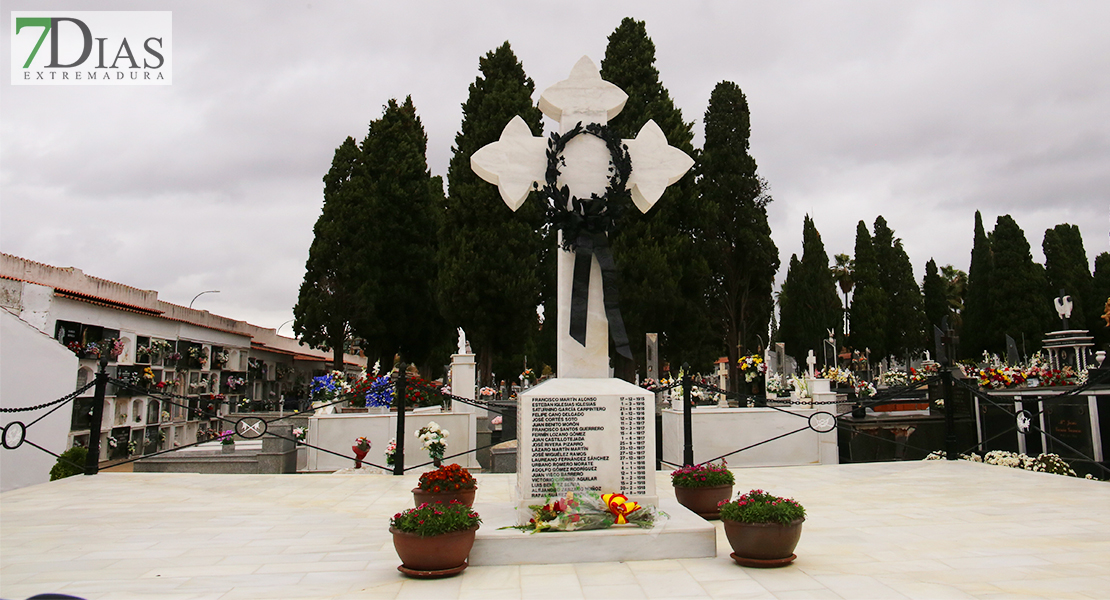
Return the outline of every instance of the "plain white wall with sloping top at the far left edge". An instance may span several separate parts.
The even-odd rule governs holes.
[[[77,369],[78,358],[72,352],[8,311],[0,309],[0,406],[36,406],[61,398],[73,391]],[[6,427],[13,421],[27,425],[50,408],[3,413],[0,414],[0,423]],[[67,449],[71,415],[72,403],[69,403],[28,428],[27,439],[61,454]],[[14,430],[8,436],[10,444],[17,438]],[[0,449],[0,491],[49,481],[50,468],[56,460],[28,444],[14,450]]]

